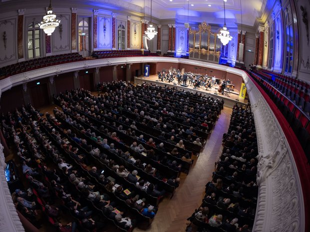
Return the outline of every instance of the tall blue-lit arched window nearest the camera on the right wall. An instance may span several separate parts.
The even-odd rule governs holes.
[[[286,8],[285,10],[285,27],[286,27],[286,55],[285,55],[285,73],[292,74],[293,54],[294,54],[294,33],[292,14]]]

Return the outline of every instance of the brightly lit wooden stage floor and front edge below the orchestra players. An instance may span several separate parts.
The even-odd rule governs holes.
[[[157,84],[157,85],[160,85],[160,86],[170,86],[171,88],[175,87],[179,90],[185,90],[185,91],[192,91],[192,92],[198,92],[198,94],[202,93],[202,94],[206,94],[206,95],[210,95],[214,98],[219,98],[220,100],[224,99],[224,105],[225,106],[229,106],[229,107],[232,107],[233,105],[235,105],[236,103],[240,103],[240,104],[243,104],[243,105],[246,105],[248,104],[248,99],[242,99],[239,97],[239,90],[234,90],[234,91],[227,91],[225,90],[224,91],[224,95],[222,95],[222,93],[219,93],[218,92],[218,87],[219,85],[214,85],[211,89],[208,88],[208,90],[206,90],[205,87],[199,87],[197,89],[194,88],[194,86],[192,85],[189,85],[187,81],[187,87],[185,86],[181,86],[181,85],[178,85],[178,81],[176,78],[174,78],[174,83],[173,82],[168,82],[168,81],[160,81],[158,80],[158,76],[157,75],[151,75],[149,77],[143,77],[143,76],[140,76],[140,77],[135,77],[134,78],[134,83],[135,84],[142,84],[143,82],[146,82],[146,83],[153,83],[153,84]]]

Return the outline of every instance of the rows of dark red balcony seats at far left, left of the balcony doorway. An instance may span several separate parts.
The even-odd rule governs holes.
[[[81,61],[84,58],[78,53],[52,55],[42,58],[29,59],[27,61],[11,64],[0,68],[0,79],[16,75],[33,69],[44,68],[52,65]]]

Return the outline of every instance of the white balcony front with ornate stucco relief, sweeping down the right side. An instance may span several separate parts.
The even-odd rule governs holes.
[[[304,232],[303,193],[292,151],[266,100],[255,85],[251,86],[252,80],[244,79],[252,89],[248,94],[259,146],[259,196],[254,231]]]

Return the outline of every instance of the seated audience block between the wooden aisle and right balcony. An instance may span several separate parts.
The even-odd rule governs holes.
[[[250,106],[234,106],[223,144],[202,205],[188,218],[188,229],[193,231],[252,231],[258,196],[258,144]]]

